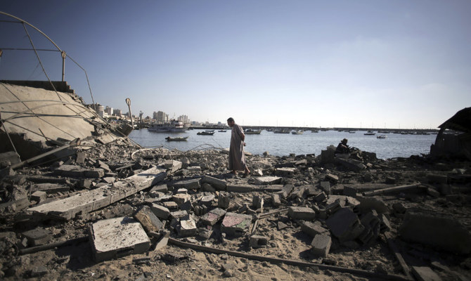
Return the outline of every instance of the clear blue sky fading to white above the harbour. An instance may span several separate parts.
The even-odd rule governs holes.
[[[2,0],[85,68],[96,103],[242,125],[436,128],[471,106],[469,0]],[[11,20],[0,15],[0,20]],[[53,48],[27,29],[36,48]],[[0,22],[0,48],[28,48]],[[61,79],[59,53],[39,52]],[[85,75],[65,80],[86,103]],[[0,79],[46,79],[4,51]]]

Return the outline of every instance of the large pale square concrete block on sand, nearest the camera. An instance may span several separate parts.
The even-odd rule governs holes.
[[[90,241],[96,262],[117,259],[127,254],[143,254],[150,240],[141,223],[120,217],[97,221],[90,227]]]

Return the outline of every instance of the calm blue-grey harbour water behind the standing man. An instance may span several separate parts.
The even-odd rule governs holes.
[[[184,133],[155,133],[147,129],[132,131],[129,137],[143,147],[163,146],[164,148],[187,151],[200,150],[202,148],[228,148],[231,140],[231,130],[219,132],[214,130],[213,136],[198,136],[196,133],[203,131],[194,129]],[[285,156],[290,153],[296,155],[315,154],[320,155],[329,145],[337,146],[343,138],[349,140],[348,144],[363,151],[375,152],[380,159],[394,157],[410,157],[411,155],[428,154],[430,145],[434,143],[437,135],[401,135],[399,133],[386,133],[387,138],[380,139],[376,136],[383,133],[375,132],[375,136],[365,136],[366,131],[356,133],[339,131],[319,131],[312,133],[304,131],[302,135],[292,133],[273,133],[262,131],[259,135],[245,136],[245,151],[262,155],[265,151],[270,155]],[[188,141],[167,142],[167,136],[188,136]]]

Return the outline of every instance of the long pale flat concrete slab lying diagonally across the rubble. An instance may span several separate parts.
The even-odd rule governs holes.
[[[161,169],[151,168],[125,178],[123,181],[118,181],[113,186],[105,185],[101,188],[78,193],[71,197],[42,204],[27,210],[51,218],[69,220],[74,218],[76,214],[101,209],[122,200],[124,197],[149,188],[151,185],[162,181],[166,176],[167,173]]]

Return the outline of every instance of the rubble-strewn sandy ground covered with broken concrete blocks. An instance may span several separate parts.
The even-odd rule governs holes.
[[[1,278],[471,279],[470,162],[265,153],[243,177],[227,160],[117,141],[3,169]]]

